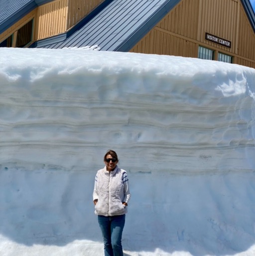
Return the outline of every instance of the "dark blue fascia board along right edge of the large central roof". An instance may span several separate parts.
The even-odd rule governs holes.
[[[167,0],[151,17],[145,20],[126,40],[113,51],[129,51],[181,0]]]

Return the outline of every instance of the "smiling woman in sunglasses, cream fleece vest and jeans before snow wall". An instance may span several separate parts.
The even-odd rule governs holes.
[[[127,172],[118,167],[118,155],[109,150],[105,167],[97,172],[93,201],[104,240],[105,256],[123,256],[122,232],[130,192]]]

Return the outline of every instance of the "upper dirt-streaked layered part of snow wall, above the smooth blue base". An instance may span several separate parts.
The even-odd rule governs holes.
[[[1,162],[91,170],[115,148],[133,172],[255,169],[254,69],[70,49],[0,60]]]

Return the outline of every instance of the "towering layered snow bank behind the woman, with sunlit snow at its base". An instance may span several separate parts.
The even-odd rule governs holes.
[[[128,172],[125,256],[255,255],[255,69],[0,48],[0,255],[102,256],[92,191]]]

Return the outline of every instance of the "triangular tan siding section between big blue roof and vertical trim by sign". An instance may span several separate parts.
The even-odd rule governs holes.
[[[130,52],[198,56],[199,0],[182,0]]]

